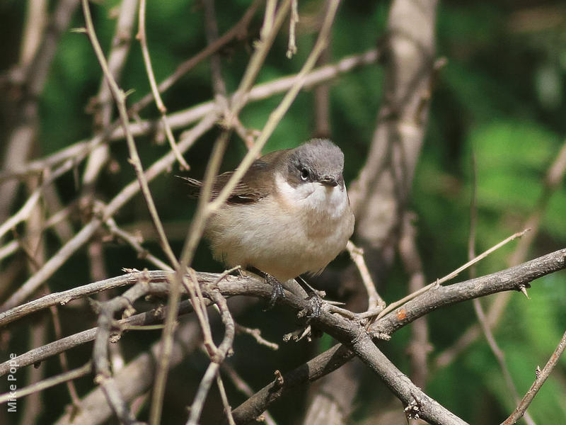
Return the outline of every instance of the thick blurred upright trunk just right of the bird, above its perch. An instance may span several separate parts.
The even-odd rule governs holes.
[[[437,0],[395,0],[381,45],[386,49],[383,101],[368,159],[350,185],[357,242],[374,280],[393,260],[426,130],[434,77]]]

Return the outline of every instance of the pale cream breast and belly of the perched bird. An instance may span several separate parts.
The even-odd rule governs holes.
[[[301,191],[279,184],[277,196],[224,205],[207,225],[216,259],[282,281],[324,268],[345,248],[354,216],[345,188],[311,184]]]

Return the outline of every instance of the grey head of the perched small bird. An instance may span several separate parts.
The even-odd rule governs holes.
[[[344,186],[344,154],[327,139],[313,139],[293,150],[289,157],[289,183],[318,182]]]

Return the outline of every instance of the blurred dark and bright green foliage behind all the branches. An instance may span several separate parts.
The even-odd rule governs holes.
[[[108,50],[115,25],[110,16],[115,14],[119,3],[105,1],[91,6],[98,38],[105,50]],[[316,37],[313,21],[322,4],[318,0],[300,2],[297,55],[288,60],[284,55],[287,39],[279,37],[258,82],[283,77],[300,69]],[[216,2],[220,33],[228,30],[247,6],[248,1],[243,0]],[[6,40],[18,40],[21,36],[24,8],[23,1],[0,3],[0,26]],[[388,8],[386,1],[344,2],[333,30],[332,60],[376,45],[386,28]],[[565,6],[558,0],[543,3],[535,0],[440,2],[438,55],[446,57],[448,63],[441,69],[432,96],[429,131],[415,174],[410,205],[418,216],[418,242],[428,280],[446,275],[467,260],[472,156],[477,164],[478,252],[520,231],[526,217],[537,208],[543,194],[545,173],[565,140],[565,16]],[[148,2],[147,35],[158,81],[204,47],[203,19],[202,6],[195,1]],[[253,31],[250,38],[232,43],[222,50],[223,72],[230,91],[238,85],[260,25],[261,19],[256,17],[250,26]],[[81,13],[76,14],[72,26],[83,26]],[[17,55],[14,46],[6,47],[1,67],[7,69]],[[41,132],[37,140],[37,157],[56,152],[92,134],[92,117],[85,112],[85,106],[98,91],[100,75],[86,36],[66,33],[40,99]],[[347,181],[357,176],[366,159],[382,84],[383,69],[378,64],[359,69],[331,84],[331,128],[333,139],[345,152]],[[134,90],[130,102],[149,91],[141,53],[135,42],[121,86]],[[210,98],[212,87],[207,63],[199,64],[164,95],[170,111],[188,108]],[[281,98],[274,96],[246,106],[241,114],[244,125],[262,128]],[[294,147],[311,137],[312,111],[312,92],[306,91],[296,99],[265,150]],[[154,106],[146,108],[140,115],[141,118],[158,116]],[[204,174],[213,140],[214,132],[202,137],[187,153],[192,176]],[[140,137],[137,144],[146,166],[166,152],[166,147],[156,145],[149,137]],[[234,137],[223,168],[235,166],[244,152],[245,147]],[[112,156],[122,168],[115,174],[106,173],[101,179],[97,190],[100,198],[105,200],[115,196],[117,188],[134,179],[134,172],[125,162],[127,149],[122,143],[112,145]],[[73,178],[66,176],[65,179],[59,186],[70,200],[74,197]],[[185,198],[183,184],[175,181],[173,174],[156,179],[151,183],[151,189],[164,221],[188,223],[194,205]],[[148,217],[143,200],[137,198],[120,212],[117,220],[128,224],[146,221]],[[173,237],[173,243],[178,252],[184,234],[181,232],[177,236]],[[560,183],[558,191],[548,201],[541,233],[529,258],[565,245],[566,190],[564,183]],[[156,244],[148,246],[159,252]],[[482,261],[477,273],[505,268],[514,246],[514,243],[509,244]],[[125,266],[145,266],[123,246],[110,246],[106,254],[110,276],[122,273],[121,268]],[[195,268],[217,271],[221,266],[212,263],[206,246],[202,246],[197,252]],[[74,256],[73,261],[55,276],[59,282],[55,285],[67,288],[64,285],[68,285],[69,281],[76,285],[86,283],[86,269],[86,256]],[[388,281],[381,283],[379,288],[388,302],[406,293],[406,276],[400,270],[400,266],[395,265]],[[466,278],[466,274],[459,278]],[[529,291],[530,300],[513,294],[507,312],[495,330],[520,395],[531,384],[536,365],[542,366],[548,360],[566,329],[565,283],[566,273],[555,273],[533,284]],[[484,305],[488,303],[489,300]],[[293,324],[292,317],[288,322],[279,319],[281,314],[285,313],[277,309],[268,313],[253,311],[240,320],[252,327],[261,324],[267,338],[280,341],[282,334],[291,330],[289,327]],[[428,319],[434,346],[432,359],[452,346],[463,329],[476,321],[470,303],[439,310],[430,314]],[[65,326],[69,332],[69,324]],[[135,338],[126,336],[125,345],[137,347],[130,351],[133,356],[157,337],[158,333],[149,336],[137,334]],[[394,363],[406,372],[408,338],[406,331],[400,331],[384,347]],[[233,363],[256,389],[271,379],[271,371],[275,368],[289,370],[311,358],[316,346],[284,346],[281,351],[272,353],[255,344],[238,344],[242,343],[236,339]],[[328,341],[325,340],[321,346],[328,346]],[[251,360],[253,364],[250,364]],[[187,387],[187,393],[183,397],[169,395],[168,403],[174,407],[171,418],[177,419],[178,409],[192,399],[203,365],[202,361],[193,359],[183,368],[178,368],[183,370],[180,371],[183,380],[173,378],[173,385],[178,385],[179,389]],[[262,373],[250,371],[256,368]],[[386,390],[381,384],[376,385],[375,380],[375,376],[369,373],[364,378],[364,392],[359,395],[357,412],[353,416],[359,421],[363,421],[363,412],[370,412],[376,400],[383,401],[383,393],[377,395],[375,389]],[[234,399],[241,397],[235,395],[233,388],[229,390],[232,397],[236,397]],[[501,370],[484,339],[475,342],[449,367],[434,371],[427,390],[432,397],[472,424],[499,423],[514,407]],[[64,392],[54,394],[62,399],[65,397]],[[45,406],[45,423],[57,417],[62,412],[62,403],[67,403],[57,402],[57,397],[50,397],[53,402]],[[529,412],[539,425],[566,423],[565,397],[566,359],[562,358]],[[295,408],[286,408],[289,405]],[[279,423],[285,424],[300,417],[303,407],[304,401],[294,397],[282,400],[273,412],[279,417]],[[211,410],[204,412],[203,423],[214,416]]]

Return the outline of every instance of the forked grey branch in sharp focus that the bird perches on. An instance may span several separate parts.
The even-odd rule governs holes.
[[[400,314],[400,309],[398,309],[397,311],[391,312],[385,317],[379,319],[371,327],[371,334],[366,332],[364,327],[357,322],[350,321],[337,314],[330,314],[328,312],[323,312],[320,314],[319,318],[312,319],[312,324],[323,331],[326,331],[331,336],[334,336],[343,344],[346,344],[346,346],[352,350],[355,355],[359,356],[359,358],[361,358],[362,361],[371,368],[371,370],[374,370],[374,372],[376,372],[376,374],[378,374],[379,377],[386,382],[391,391],[399,397],[405,405],[413,407],[416,406],[419,409],[420,417],[426,419],[432,424],[462,424],[463,422],[460,419],[456,418],[456,416],[446,411],[446,409],[441,407],[437,402],[430,399],[422,392],[422,390],[413,385],[405,375],[400,373],[400,371],[397,370],[397,368],[395,368],[395,366],[388,361],[385,356],[383,356],[383,353],[379,351],[379,348],[375,346],[374,342],[371,341],[371,335],[379,336],[383,334],[392,334],[394,331],[400,329],[400,327],[412,322],[412,320],[445,305],[451,305],[455,302],[462,302],[474,297],[490,295],[506,290],[520,290],[521,287],[529,285],[532,280],[563,268],[566,268],[566,249],[555,251],[519,266],[507,268],[506,270],[492,273],[487,276],[466,280],[461,283],[454,283],[453,285],[446,287],[438,286],[436,288],[432,288],[427,293],[415,297],[415,299],[400,307],[400,309],[403,309],[403,314]],[[147,273],[146,276],[149,278],[151,293],[168,293],[168,287],[165,283],[163,283],[163,281],[166,280],[167,276],[171,276],[171,273],[164,271],[149,271],[144,273]],[[112,284],[120,285],[121,282],[132,283],[132,278],[139,278],[139,276],[137,276],[138,274],[139,273],[132,273],[127,276],[121,276],[120,278],[113,278]],[[214,275],[212,273],[198,273],[198,277],[200,283],[213,283],[218,275]],[[103,284],[104,282],[99,283],[99,285]],[[108,285],[108,283],[106,284]],[[255,278],[253,276],[226,276],[224,280],[218,283],[217,287],[221,294],[226,297],[231,297],[233,295],[250,295],[253,297],[262,297],[267,299],[271,295],[270,286],[266,285],[261,278]],[[90,290],[92,290],[92,287]],[[203,287],[203,293],[204,290],[205,288]],[[57,297],[56,294],[54,295]],[[53,295],[50,295],[50,297],[52,296]],[[49,302],[44,302],[43,305],[47,307],[47,305],[51,302],[52,298]],[[291,293],[287,293],[287,297],[285,297],[281,302],[282,304],[293,308],[297,312],[304,309],[308,310],[308,308],[310,308],[308,302],[301,300],[299,297],[296,297]],[[336,359],[334,354],[338,349],[340,349],[340,346],[333,348],[332,352],[323,353],[323,355],[321,355],[326,359],[325,368],[328,368],[328,361],[330,361],[330,358]],[[341,349],[347,350],[346,348]],[[333,368],[339,367],[350,357],[350,354],[347,352],[342,353],[340,359],[333,363]],[[324,364],[324,362],[320,363],[320,356],[317,359],[313,359],[311,362],[315,362],[319,366]],[[1,366],[3,365],[0,365],[0,369]],[[325,373],[330,371],[331,370],[327,369]],[[320,376],[325,373],[320,371],[305,373],[303,371],[302,373],[299,373],[299,378],[293,378],[291,382],[289,382],[289,385],[291,385],[291,387],[299,385],[307,382],[308,380],[320,378]],[[277,382],[281,381],[278,380]],[[281,393],[288,389],[287,384],[285,384],[285,377],[283,377],[283,384],[277,382],[272,385],[281,385]],[[261,396],[260,393],[262,393],[263,396]],[[269,390],[266,391],[265,389],[261,390],[258,394],[248,400],[248,402],[246,402],[248,404],[254,404],[255,408],[252,410],[240,409],[240,407],[238,407],[239,410],[235,409],[233,412],[234,418],[236,419],[241,417],[238,415],[241,414],[242,410],[246,413],[246,415],[253,415],[259,410],[265,410],[269,402],[278,398],[275,396],[277,393],[278,392],[270,392]],[[259,402],[258,399],[260,399]],[[236,419],[236,421],[238,423],[242,423],[242,421],[238,419]]]

